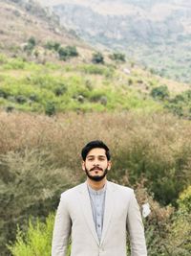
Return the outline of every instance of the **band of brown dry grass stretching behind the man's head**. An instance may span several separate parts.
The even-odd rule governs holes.
[[[0,112],[0,134],[1,153],[43,149],[51,152],[57,166],[74,170],[79,169],[81,148],[94,139],[109,145],[115,169],[135,157],[169,167],[191,145],[190,122],[168,114],[67,113],[49,118]]]

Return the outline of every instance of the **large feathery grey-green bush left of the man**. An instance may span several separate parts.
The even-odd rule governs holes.
[[[22,132],[20,130],[20,137]],[[29,136],[29,128],[26,133]],[[42,136],[43,132],[41,132],[41,139]],[[29,137],[26,139],[28,140]],[[2,217],[0,232],[3,234],[0,238],[0,249],[2,255],[5,255],[5,244],[14,240],[17,224],[25,232],[28,225],[26,221],[30,216],[33,218],[38,216],[44,220],[50,210],[56,207],[60,193],[73,183],[71,174],[69,170],[55,168],[51,155],[45,149],[0,155],[0,216]],[[61,186],[58,185],[58,180],[62,180]]]

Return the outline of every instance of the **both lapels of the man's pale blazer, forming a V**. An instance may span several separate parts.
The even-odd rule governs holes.
[[[105,197],[105,210],[104,210],[104,216],[103,216],[103,228],[102,228],[102,235],[101,235],[101,241],[99,242],[97,234],[96,234],[96,226],[93,219],[93,212],[92,212],[92,206],[90,201],[90,196],[88,192],[87,183],[82,183],[79,186],[79,194],[80,194],[80,201],[82,204],[82,210],[85,217],[85,220],[88,223],[88,226],[96,240],[97,244],[102,244],[107,232],[107,229],[109,227],[113,212],[114,212],[114,204],[113,204],[113,186],[112,183],[107,181],[107,187],[106,187],[106,197]]]

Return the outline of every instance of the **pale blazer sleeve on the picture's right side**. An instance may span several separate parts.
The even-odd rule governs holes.
[[[131,256],[147,256],[144,227],[133,190],[128,206],[127,229],[130,236]]]

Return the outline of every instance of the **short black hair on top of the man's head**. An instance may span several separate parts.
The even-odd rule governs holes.
[[[110,160],[110,158],[111,158],[110,150],[101,140],[94,140],[94,141],[89,142],[81,151],[82,159],[85,161],[86,156],[89,153],[89,151],[96,149],[96,148],[104,149],[108,161]]]

